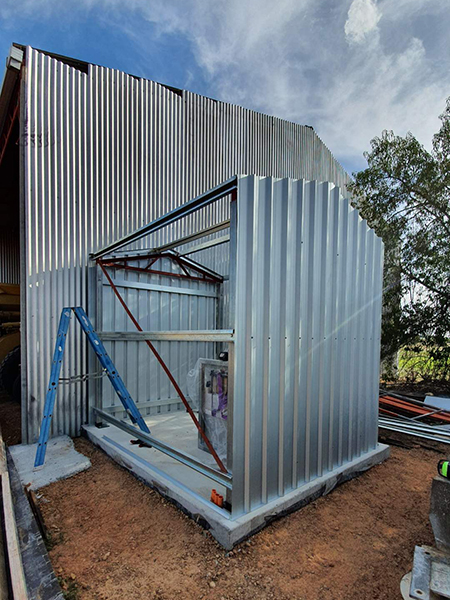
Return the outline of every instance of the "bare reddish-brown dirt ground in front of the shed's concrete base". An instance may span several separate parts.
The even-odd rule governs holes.
[[[391,458],[225,552],[83,439],[92,468],[41,490],[50,558],[72,600],[392,600],[414,546],[432,544],[441,454]]]

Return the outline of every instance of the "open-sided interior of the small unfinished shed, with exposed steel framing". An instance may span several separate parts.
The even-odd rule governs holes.
[[[91,393],[97,431],[88,428],[90,435],[106,435],[197,499],[210,503],[215,489],[216,506],[228,516],[234,332],[232,233],[224,215],[236,200],[236,181],[94,254],[89,286],[95,328],[159,445],[130,445],[130,431],[123,430],[129,415],[104,378]],[[116,427],[103,430],[99,423]]]

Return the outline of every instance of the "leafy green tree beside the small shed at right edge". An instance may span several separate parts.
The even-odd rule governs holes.
[[[385,244],[382,357],[450,338],[450,98],[428,152],[411,134],[384,131],[349,186],[354,205]],[[445,360],[444,360],[445,362]],[[448,370],[443,370],[448,377]]]

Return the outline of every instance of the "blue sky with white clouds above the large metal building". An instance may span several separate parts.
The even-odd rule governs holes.
[[[430,147],[448,0],[2,0],[19,42],[312,125],[349,171],[383,129]]]

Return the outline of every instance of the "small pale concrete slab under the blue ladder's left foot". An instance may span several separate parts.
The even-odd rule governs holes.
[[[9,451],[23,485],[31,484],[32,490],[65,479],[89,469],[91,461],[77,452],[67,435],[51,438],[47,443],[45,464],[34,468],[37,444],[11,446]]]

